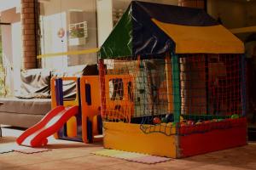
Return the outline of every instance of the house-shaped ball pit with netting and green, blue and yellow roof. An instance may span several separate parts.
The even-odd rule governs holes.
[[[131,2],[99,54],[104,147],[180,158],[247,144],[243,53],[201,9]]]

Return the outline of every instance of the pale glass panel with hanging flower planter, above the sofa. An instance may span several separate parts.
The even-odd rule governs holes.
[[[96,48],[95,0],[40,3],[41,53],[55,54]],[[96,63],[96,54],[65,54],[42,59],[43,68]]]

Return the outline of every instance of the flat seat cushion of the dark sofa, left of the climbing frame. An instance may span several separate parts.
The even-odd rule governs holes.
[[[0,98],[0,112],[45,115],[51,109],[50,99]]]

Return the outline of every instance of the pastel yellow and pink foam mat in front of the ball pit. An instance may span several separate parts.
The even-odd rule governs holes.
[[[108,156],[113,158],[124,159],[126,161],[134,161],[134,162],[145,163],[145,164],[155,164],[155,163],[172,160],[171,158],[167,158],[167,157],[150,156],[146,154],[139,154],[139,153],[133,153],[133,152],[127,152],[127,151],[121,151],[121,150],[108,150],[108,149],[98,150],[98,151],[92,152],[92,154],[96,156]]]

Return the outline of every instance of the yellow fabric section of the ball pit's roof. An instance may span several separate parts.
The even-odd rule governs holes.
[[[224,26],[180,26],[152,19],[176,43],[177,54],[243,54],[244,44]]]

